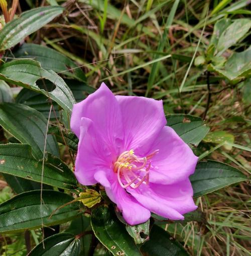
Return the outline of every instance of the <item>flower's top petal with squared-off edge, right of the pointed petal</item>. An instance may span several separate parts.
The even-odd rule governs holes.
[[[144,155],[166,124],[162,101],[145,97],[116,96],[123,128],[124,150],[140,149]],[[146,146],[145,146],[146,145]]]

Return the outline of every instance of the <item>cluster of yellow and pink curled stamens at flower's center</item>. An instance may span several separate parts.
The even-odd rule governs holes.
[[[117,173],[117,180],[121,187],[139,187],[142,183],[149,184],[149,171],[151,158],[159,150],[155,150],[146,157],[138,157],[134,150],[124,151],[114,163],[114,172]]]

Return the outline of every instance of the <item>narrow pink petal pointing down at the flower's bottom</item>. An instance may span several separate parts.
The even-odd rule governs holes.
[[[122,212],[123,218],[130,225],[146,222],[151,217],[150,211],[137,202],[119,185],[115,174],[110,179],[110,188],[105,187],[105,191],[110,200]]]

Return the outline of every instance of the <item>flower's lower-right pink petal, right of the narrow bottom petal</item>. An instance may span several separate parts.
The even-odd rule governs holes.
[[[127,190],[151,212],[171,220],[184,219],[183,214],[197,209],[189,179],[172,185],[143,184]]]

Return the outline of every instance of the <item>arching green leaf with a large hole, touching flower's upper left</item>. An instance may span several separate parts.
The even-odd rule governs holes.
[[[41,89],[36,81],[42,78],[51,81],[56,88],[52,91]],[[0,80],[42,93],[55,100],[69,113],[75,103],[72,92],[64,80],[54,71],[42,69],[40,63],[32,59],[19,59],[5,63],[0,67]]]

